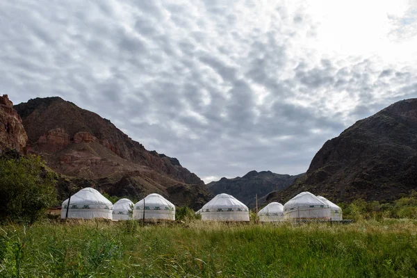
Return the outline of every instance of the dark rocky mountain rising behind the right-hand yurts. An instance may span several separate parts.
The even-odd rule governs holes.
[[[310,191],[333,202],[386,202],[412,189],[417,190],[417,99],[406,99],[325,142],[306,175],[267,201],[286,202]]]

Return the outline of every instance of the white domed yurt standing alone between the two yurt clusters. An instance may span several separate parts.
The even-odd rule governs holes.
[[[216,195],[202,207],[200,213],[205,221],[249,221],[249,209],[228,194]]]

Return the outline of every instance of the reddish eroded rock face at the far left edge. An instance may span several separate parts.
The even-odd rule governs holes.
[[[17,112],[13,109],[13,102],[8,95],[0,96],[0,154],[7,149],[25,152],[28,136]]]

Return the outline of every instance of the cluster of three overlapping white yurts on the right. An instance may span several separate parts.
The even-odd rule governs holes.
[[[261,222],[281,220],[343,220],[342,209],[322,196],[303,192],[284,204],[272,202],[258,213]]]

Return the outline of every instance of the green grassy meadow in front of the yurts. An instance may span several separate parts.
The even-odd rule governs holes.
[[[416,220],[76,221],[0,233],[0,277],[417,277]]]

